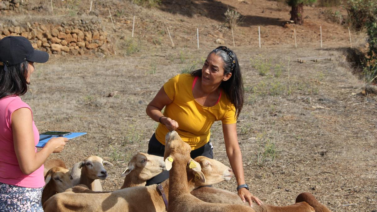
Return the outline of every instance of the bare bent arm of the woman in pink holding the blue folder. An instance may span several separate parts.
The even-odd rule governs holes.
[[[42,166],[52,152],[60,152],[67,138],[52,138],[39,152],[35,152],[32,115],[28,108],[20,108],[12,113],[14,151],[21,171],[29,175]]]

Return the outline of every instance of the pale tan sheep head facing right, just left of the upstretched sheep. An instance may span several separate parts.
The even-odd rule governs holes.
[[[135,172],[138,179],[146,181],[164,170],[166,168],[163,157],[139,152],[131,158],[121,176],[124,177],[130,174],[130,172]]]

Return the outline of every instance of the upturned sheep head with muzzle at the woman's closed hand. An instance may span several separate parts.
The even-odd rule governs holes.
[[[166,134],[164,152],[166,170],[169,171],[172,168],[173,161],[177,159],[175,157],[181,157],[180,160],[190,162],[190,152],[190,145],[182,141],[176,131],[170,131]]]

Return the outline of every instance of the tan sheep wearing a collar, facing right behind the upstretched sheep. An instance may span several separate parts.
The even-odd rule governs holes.
[[[192,162],[191,162],[192,161]],[[191,169],[190,165],[195,164],[196,167],[201,167],[197,171],[195,168]],[[207,166],[208,164],[208,166]],[[199,186],[219,183],[221,181],[229,181],[233,175],[231,169],[219,161],[198,157],[195,160],[190,160],[186,167],[188,180],[187,187],[193,190]],[[186,174],[185,174],[186,175]],[[207,179],[205,183],[196,180],[196,176],[202,176]],[[165,191],[166,197],[169,198],[169,179],[161,183]],[[106,194],[75,194],[73,192],[63,192],[54,195],[43,204],[44,211],[156,211],[166,212],[164,200],[157,185],[137,186],[125,189],[116,190]]]

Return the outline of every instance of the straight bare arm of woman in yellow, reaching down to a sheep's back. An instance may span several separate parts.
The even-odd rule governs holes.
[[[245,184],[244,167],[242,166],[242,154],[238,145],[236,123],[234,124],[222,124],[222,132],[224,134],[225,148],[227,151],[230,166],[233,169],[234,176],[237,180],[237,185]],[[242,201],[248,201],[252,206],[254,200],[258,205],[262,203],[259,198],[250,194],[246,188],[238,190],[238,195]]]

